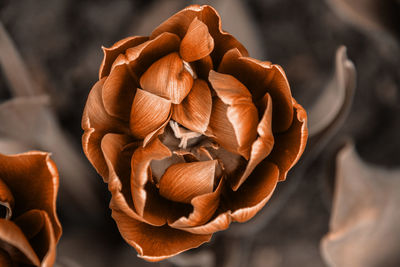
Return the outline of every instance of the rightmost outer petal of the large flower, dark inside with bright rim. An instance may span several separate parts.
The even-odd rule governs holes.
[[[280,134],[275,134],[275,145],[268,156],[279,168],[279,181],[285,180],[287,172],[296,164],[307,143],[307,114],[293,99],[293,124]]]

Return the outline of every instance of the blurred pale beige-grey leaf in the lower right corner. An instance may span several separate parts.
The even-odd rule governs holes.
[[[363,162],[347,144],[337,156],[330,231],[321,241],[329,266],[400,266],[400,169]]]

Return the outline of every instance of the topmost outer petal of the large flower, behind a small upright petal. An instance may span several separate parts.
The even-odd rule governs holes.
[[[207,5],[192,5],[176,13],[158,26],[152,32],[150,38],[153,39],[164,32],[172,32],[183,38],[195,17],[207,25],[208,31],[214,39],[214,50],[211,57],[215,66],[219,65],[226,51],[232,48],[237,48],[244,56],[248,55],[246,48],[238,40],[222,30],[218,13],[214,8]]]

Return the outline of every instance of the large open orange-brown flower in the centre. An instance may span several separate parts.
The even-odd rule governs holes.
[[[147,260],[249,220],[304,150],[306,113],[282,68],[248,57],[210,6],[104,48],[99,76],[83,148],[119,231]]]

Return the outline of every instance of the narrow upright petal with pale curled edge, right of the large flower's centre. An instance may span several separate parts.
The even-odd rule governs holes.
[[[247,163],[244,173],[237,181],[232,181],[231,186],[236,191],[247,177],[251,174],[254,168],[271,152],[274,146],[274,136],[272,133],[272,100],[269,94],[264,97],[265,111],[264,115],[257,126],[258,137],[251,145],[250,159]]]

